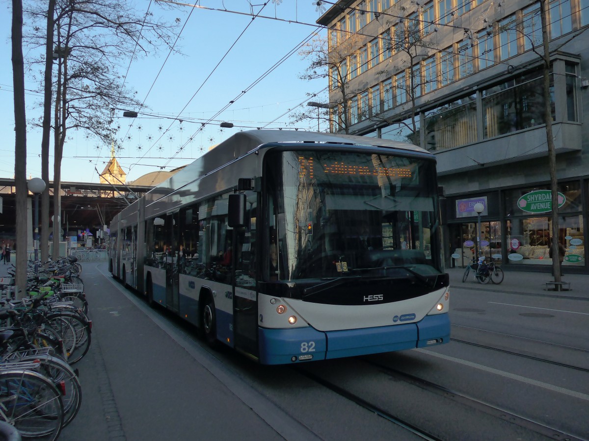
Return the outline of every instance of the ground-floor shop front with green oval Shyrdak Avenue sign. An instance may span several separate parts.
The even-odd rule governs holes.
[[[583,203],[582,191],[588,183],[558,185],[558,241],[565,249],[563,273],[589,270],[584,228],[587,203]],[[480,219],[474,210],[477,202],[485,208]],[[552,202],[548,185],[449,197],[446,209],[451,254],[447,265],[465,266],[477,256],[485,256],[512,269],[551,270]]]

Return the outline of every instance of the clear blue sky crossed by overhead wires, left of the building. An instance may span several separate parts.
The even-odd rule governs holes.
[[[25,0],[26,2],[27,0]],[[164,64],[167,52],[148,55],[144,59],[133,61],[127,76],[126,85],[137,91],[137,98],[143,101],[147,96],[146,113],[178,116],[190,98],[199,88],[200,91],[188,103],[186,109],[178,116],[207,121],[220,111],[227,103],[240,95],[254,81],[270,69],[297,44],[311,34],[315,21],[320,16],[312,0],[267,0],[268,4],[260,16],[277,19],[256,18],[237,44],[223,59],[220,66],[210,76],[213,68],[234,44],[241,32],[252,21],[250,15],[233,14],[224,11],[195,9],[188,19],[179,42],[183,55],[171,55],[161,71],[160,76],[147,96],[157,72]],[[252,1],[252,4],[256,2]],[[201,0],[201,6],[209,8],[226,8],[230,11],[257,14],[260,5],[250,6],[246,0]],[[138,0],[137,9],[147,9],[148,0]],[[327,5],[329,6],[329,5]],[[0,131],[4,134],[0,147],[0,176],[14,176],[14,106],[11,69],[11,9],[9,2],[0,6],[0,29],[4,44],[0,45],[0,56],[4,59],[5,69],[0,71]],[[151,10],[160,14],[161,9],[153,2]],[[168,21],[180,18],[184,24],[192,8],[179,6],[174,11],[164,11]],[[290,21],[290,22],[289,22]],[[300,23],[295,23],[300,22]],[[307,24],[307,25],[306,25]],[[321,31],[325,35],[325,31]],[[29,54],[25,51],[25,58]],[[128,62],[125,63],[128,65]],[[233,103],[229,109],[216,118],[216,123],[194,135],[200,123],[184,121],[179,124],[173,119],[122,117],[115,119],[120,125],[118,138],[124,139],[123,149],[116,153],[118,161],[125,172],[127,181],[133,181],[145,173],[157,171],[167,165],[166,170],[193,161],[207,151],[210,145],[219,143],[239,131],[241,128],[221,129],[220,121],[233,122],[236,126],[256,128],[292,127],[287,113],[289,109],[307,101],[326,100],[326,92],[319,98],[308,98],[306,93],[316,93],[326,87],[323,81],[306,82],[298,77],[308,65],[297,52],[290,56],[254,88]],[[124,72],[121,72],[124,75]],[[202,87],[201,87],[202,86]],[[25,78],[27,119],[40,115],[42,95],[32,92],[38,85],[31,78]],[[279,118],[276,122],[274,119]],[[173,123],[170,127],[170,123]],[[268,124],[270,123],[270,124]],[[299,128],[316,130],[316,121],[299,123]],[[181,127],[181,128],[180,128]],[[169,129],[168,129],[169,128]],[[129,139],[130,136],[130,139]],[[151,139],[150,139],[151,136]],[[188,142],[176,158],[180,146]],[[158,138],[161,139],[157,141]],[[171,139],[170,139],[171,138]],[[27,136],[27,178],[41,177],[41,133],[28,125]],[[141,147],[141,149],[140,149]],[[49,164],[49,177],[53,176],[53,146]],[[142,158],[143,157],[143,158]],[[102,145],[97,139],[87,138],[86,133],[70,131],[64,148],[62,161],[62,181],[98,182],[96,167],[102,172],[110,159],[110,146]]]

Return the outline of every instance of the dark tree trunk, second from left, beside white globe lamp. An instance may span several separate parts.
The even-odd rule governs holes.
[[[51,72],[53,69],[53,15],[55,1],[49,0],[47,6],[47,43],[45,46],[45,96],[43,103],[43,135],[41,139],[41,179],[45,181],[45,191],[41,193],[41,262],[49,260],[49,136],[51,136]],[[57,213],[59,214],[59,213]],[[55,216],[57,219],[57,216]]]

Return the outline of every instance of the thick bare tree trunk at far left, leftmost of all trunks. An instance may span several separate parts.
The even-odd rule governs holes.
[[[25,113],[25,66],[22,58],[22,0],[12,0],[12,82],[14,86],[14,181],[16,187],[15,250],[16,299],[27,289],[27,115]],[[17,248],[18,246],[18,248]]]

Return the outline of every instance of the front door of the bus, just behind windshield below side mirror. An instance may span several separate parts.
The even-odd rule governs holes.
[[[236,349],[258,357],[256,273],[257,193],[247,196],[246,226],[234,229],[233,339]]]

